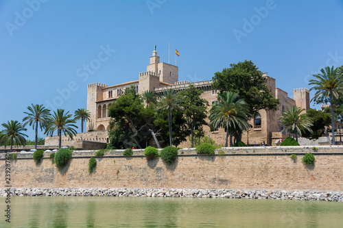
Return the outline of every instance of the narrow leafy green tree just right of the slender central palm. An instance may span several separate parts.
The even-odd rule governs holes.
[[[193,84],[189,85],[189,88],[180,92],[182,96],[182,107],[185,117],[187,119],[187,125],[191,129],[191,147],[193,148],[193,131],[197,127],[207,125],[205,119],[207,117],[206,108],[209,102],[200,98],[200,95],[204,90],[199,90]]]

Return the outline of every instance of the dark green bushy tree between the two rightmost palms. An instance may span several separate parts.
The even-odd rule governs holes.
[[[331,123],[331,114],[320,110],[309,109],[306,116],[311,118],[313,125],[311,126],[312,133],[307,130],[302,130],[303,137],[309,139],[318,139],[324,134],[325,126],[329,127]]]

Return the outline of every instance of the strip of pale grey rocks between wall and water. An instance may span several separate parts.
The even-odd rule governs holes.
[[[8,191],[9,190],[9,191]],[[343,201],[343,192],[184,188],[1,188],[2,197],[190,197]]]

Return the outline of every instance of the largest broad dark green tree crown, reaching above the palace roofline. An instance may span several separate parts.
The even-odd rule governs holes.
[[[225,92],[237,92],[239,98],[248,103],[248,112],[255,116],[259,110],[277,110],[279,99],[275,99],[270,88],[265,84],[262,72],[257,66],[245,60],[237,64],[230,64],[230,68],[224,68],[213,76],[214,89]]]

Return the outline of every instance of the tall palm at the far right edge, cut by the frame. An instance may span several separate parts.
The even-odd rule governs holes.
[[[317,103],[326,102],[329,99],[330,106],[331,106],[331,131],[332,131],[332,143],[335,145],[335,114],[333,112],[333,98],[338,98],[343,92],[343,79],[340,76],[339,69],[330,68],[329,66],[325,66],[325,68],[321,69],[317,75],[312,75],[316,77],[316,79],[309,80],[309,85],[314,85],[310,89],[316,90],[314,97],[312,97],[311,101],[314,100]]]

